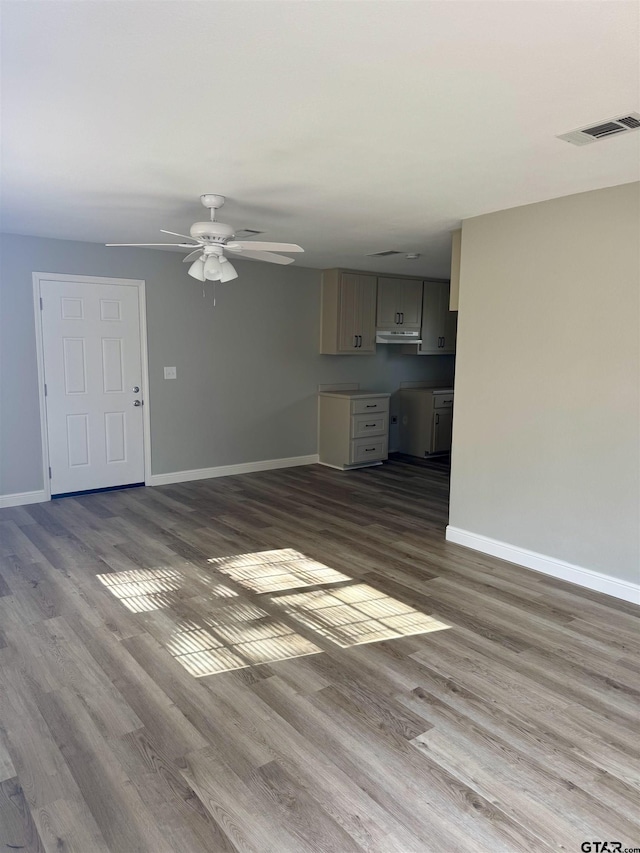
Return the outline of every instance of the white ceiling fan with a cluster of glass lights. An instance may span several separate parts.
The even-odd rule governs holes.
[[[193,261],[189,267],[189,275],[198,281],[232,281],[238,277],[235,267],[226,257],[225,252],[234,255],[253,258],[256,261],[267,261],[270,264],[292,264],[293,258],[276,255],[274,252],[304,252],[296,243],[264,243],[258,240],[234,240],[234,230],[231,225],[216,222],[216,210],[224,204],[224,196],[206,193],[200,196],[204,207],[211,211],[210,222],[194,222],[189,229],[189,235],[178,234],[175,231],[165,231],[173,237],[184,237],[189,243],[107,243],[107,246],[178,246],[181,249],[195,249],[183,260],[183,263]],[[194,260],[195,259],[195,260]]]

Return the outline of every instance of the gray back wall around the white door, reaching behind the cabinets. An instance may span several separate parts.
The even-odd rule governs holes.
[[[319,355],[319,270],[240,262],[214,308],[180,254],[15,235],[0,249],[0,494],[43,486],[33,271],[146,280],[154,474],[316,453],[320,383],[394,391],[453,375],[452,357],[391,347]]]

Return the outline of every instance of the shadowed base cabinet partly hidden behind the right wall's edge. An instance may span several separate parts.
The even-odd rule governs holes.
[[[402,388],[398,450],[409,456],[451,451],[452,388]]]

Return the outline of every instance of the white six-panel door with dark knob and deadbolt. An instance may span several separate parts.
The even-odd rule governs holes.
[[[41,281],[52,495],[144,481],[138,288]]]

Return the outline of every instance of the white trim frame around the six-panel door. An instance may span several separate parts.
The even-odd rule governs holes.
[[[42,284],[45,281],[71,281],[74,284],[119,284],[135,287],[138,291],[138,317],[140,323],[140,357],[144,390],[142,407],[142,443],[144,451],[144,483],[151,482],[151,416],[149,408],[149,358],[147,349],[147,297],[144,279],[104,278],[95,275],[64,275],[63,273],[34,272],[33,313],[36,325],[36,358],[38,362],[38,399],[40,405],[40,436],[42,440],[42,480],[45,500],[51,500],[51,480],[49,479],[49,429],[47,425],[47,405],[44,393],[44,345],[42,332],[42,311],[40,298]]]

